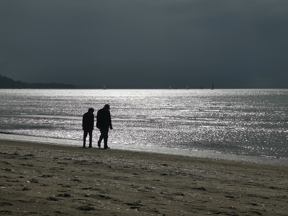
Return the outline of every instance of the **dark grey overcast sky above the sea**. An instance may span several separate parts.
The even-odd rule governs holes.
[[[287,0],[0,0],[0,74],[128,88],[288,88]]]

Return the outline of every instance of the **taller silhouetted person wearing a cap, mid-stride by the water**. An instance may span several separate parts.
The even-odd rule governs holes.
[[[110,106],[106,104],[102,109],[97,112],[96,127],[100,130],[101,135],[98,141],[98,147],[101,147],[101,141],[104,139],[104,149],[109,149],[107,146],[109,128],[112,130]]]

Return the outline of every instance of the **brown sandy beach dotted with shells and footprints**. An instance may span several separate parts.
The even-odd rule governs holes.
[[[0,215],[288,215],[288,167],[0,140]]]

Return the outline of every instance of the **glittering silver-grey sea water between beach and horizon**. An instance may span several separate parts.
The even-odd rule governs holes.
[[[0,139],[82,146],[106,103],[113,149],[288,164],[287,89],[0,89]]]

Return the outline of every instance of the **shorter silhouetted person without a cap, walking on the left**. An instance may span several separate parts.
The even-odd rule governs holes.
[[[84,113],[82,118],[82,130],[84,130],[83,135],[83,147],[86,147],[86,137],[89,134],[89,148],[92,148],[92,131],[94,130],[94,109],[89,108],[87,113]]]

